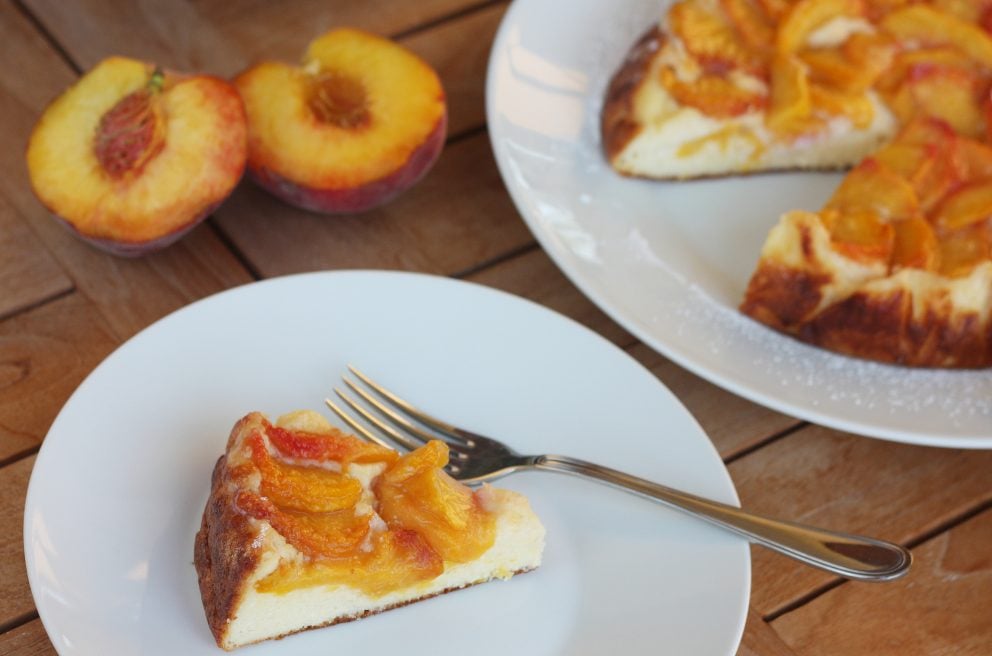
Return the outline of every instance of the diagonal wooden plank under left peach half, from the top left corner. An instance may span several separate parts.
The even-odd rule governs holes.
[[[75,79],[12,3],[0,4],[0,56],[17,66],[0,71],[0,196],[31,229],[107,318],[127,337],[162,315],[251,276],[209,226],[154,256],[125,260],[69,234],[34,198],[24,165],[27,135],[45,104]]]

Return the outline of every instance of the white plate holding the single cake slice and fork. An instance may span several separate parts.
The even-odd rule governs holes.
[[[28,490],[24,549],[60,654],[221,653],[192,565],[214,461],[239,417],[318,409],[347,363],[523,451],[737,502],[712,444],[654,376],[540,306],[414,274],[256,283],[128,341],[52,425]],[[750,583],[743,540],[565,476],[500,484],[527,494],[545,521],[538,571],[239,653],[571,655],[618,644],[630,654],[734,653]]]

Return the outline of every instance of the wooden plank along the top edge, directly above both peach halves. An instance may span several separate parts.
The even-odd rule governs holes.
[[[261,58],[297,61],[312,37],[332,27],[394,35],[479,2],[26,0],[25,5],[84,70],[108,55],[123,55],[232,77]]]

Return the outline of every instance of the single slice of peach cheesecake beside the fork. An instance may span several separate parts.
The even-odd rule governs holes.
[[[447,446],[395,451],[312,411],[253,412],[218,460],[194,564],[226,650],[347,622],[541,564],[544,527],[522,495],[475,491]]]

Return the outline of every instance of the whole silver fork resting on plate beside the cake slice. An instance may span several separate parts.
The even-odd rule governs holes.
[[[845,578],[889,581],[909,571],[912,554],[898,544],[749,513],[576,458],[517,453],[502,442],[432,417],[356,368],[349,366],[348,369],[362,384],[348,377],[342,377],[342,380],[367,404],[366,407],[335,388],[334,392],[349,408],[402,449],[413,450],[428,440],[443,440],[451,455],[446,469],[464,483],[482,483],[529,469],[575,474],[685,511],[752,542]],[[333,401],[327,399],[326,402],[359,435],[394,448]],[[373,408],[374,412],[368,408]]]

